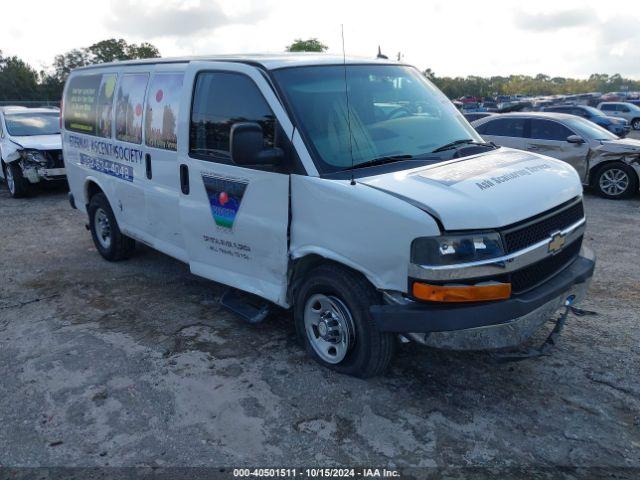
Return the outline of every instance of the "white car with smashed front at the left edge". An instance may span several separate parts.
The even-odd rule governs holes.
[[[14,198],[37,183],[65,180],[60,110],[0,108],[0,158],[0,175]]]

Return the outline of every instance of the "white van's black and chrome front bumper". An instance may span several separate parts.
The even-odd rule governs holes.
[[[539,287],[498,302],[474,304],[374,305],[371,314],[379,330],[409,334],[429,346],[453,350],[486,350],[522,344],[569,299],[581,301],[587,292],[595,256],[583,248],[580,256]]]

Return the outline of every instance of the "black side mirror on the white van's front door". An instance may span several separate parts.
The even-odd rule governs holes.
[[[231,159],[240,166],[270,166],[284,158],[280,148],[264,148],[262,127],[254,122],[236,123],[229,137]]]

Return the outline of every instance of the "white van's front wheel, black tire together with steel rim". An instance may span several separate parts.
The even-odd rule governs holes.
[[[327,368],[360,378],[379,375],[389,366],[396,347],[395,336],[380,332],[369,313],[369,307],[381,301],[380,294],[361,275],[337,265],[319,266],[294,292],[298,337],[307,353]]]

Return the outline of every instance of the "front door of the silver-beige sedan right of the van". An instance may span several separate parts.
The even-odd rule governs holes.
[[[589,146],[587,142],[567,142],[567,138],[571,135],[576,135],[576,133],[559,122],[533,118],[529,130],[530,138],[526,141],[526,149],[564,160],[576,169],[582,180],[585,180]]]

